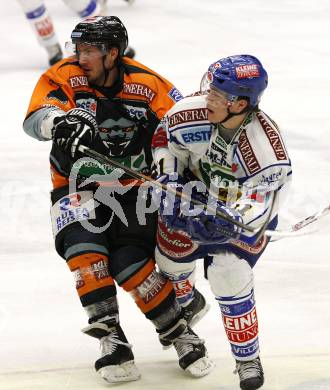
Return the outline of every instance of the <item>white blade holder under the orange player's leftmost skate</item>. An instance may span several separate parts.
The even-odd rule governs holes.
[[[136,381],[141,377],[134,361],[117,366],[102,367],[98,373],[109,383]]]

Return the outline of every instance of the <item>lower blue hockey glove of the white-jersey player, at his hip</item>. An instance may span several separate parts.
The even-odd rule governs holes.
[[[217,210],[234,221],[242,222],[241,215],[235,210],[218,202]],[[230,239],[239,239],[242,229],[230,221],[202,212],[197,217],[187,219],[187,232],[200,244],[221,244]]]

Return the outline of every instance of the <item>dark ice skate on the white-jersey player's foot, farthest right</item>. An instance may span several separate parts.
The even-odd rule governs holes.
[[[260,358],[242,362],[236,360],[236,370],[242,390],[256,390],[264,384],[264,372]]]

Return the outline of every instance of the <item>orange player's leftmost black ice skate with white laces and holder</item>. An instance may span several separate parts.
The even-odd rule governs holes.
[[[95,370],[105,381],[129,382],[140,378],[132,345],[127,342],[119,324],[108,327],[104,323],[93,323],[83,332],[100,339],[101,357],[95,362]]]

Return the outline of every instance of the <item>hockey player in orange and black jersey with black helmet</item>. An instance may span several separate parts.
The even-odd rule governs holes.
[[[116,283],[131,293],[160,341],[173,343],[180,367],[195,377],[206,375],[213,363],[204,342],[187,325],[172,284],[155,268],[157,212],[146,213],[144,223],[137,218],[148,194],[123,172],[81,152],[85,145],[149,174],[151,143],[158,142],[154,131],[181,95],[162,76],[123,56],[128,37],[117,17],[87,19],[71,39],[76,55],[40,77],[24,130],[52,141],[55,246],[89,318],[83,331],[101,342],[95,368],[108,382],[140,377],[119,323]]]

